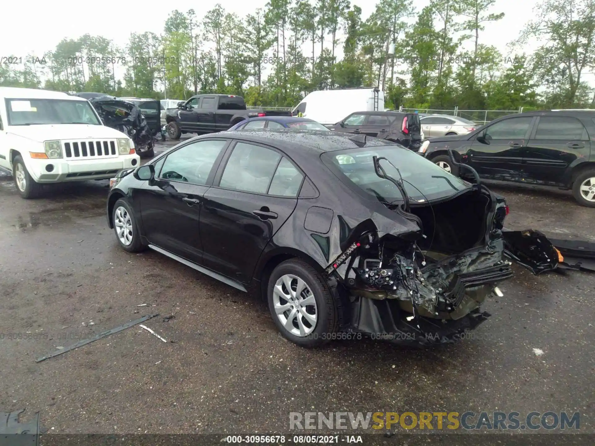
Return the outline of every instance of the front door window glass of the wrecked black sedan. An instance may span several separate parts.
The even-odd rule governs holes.
[[[210,140],[181,147],[165,158],[159,177],[183,183],[206,184],[217,156],[226,144],[224,140]]]

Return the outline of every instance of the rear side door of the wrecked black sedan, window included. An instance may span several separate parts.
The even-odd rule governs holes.
[[[204,196],[203,259],[207,268],[246,284],[295,209],[304,177],[273,147],[237,142],[227,152]]]

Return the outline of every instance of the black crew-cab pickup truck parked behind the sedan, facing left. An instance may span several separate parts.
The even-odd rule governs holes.
[[[215,133],[228,130],[240,121],[260,116],[291,116],[290,111],[246,109],[242,96],[196,95],[178,108],[165,112],[167,134],[180,139],[182,133]]]

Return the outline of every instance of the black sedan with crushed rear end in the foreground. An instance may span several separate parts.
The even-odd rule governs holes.
[[[232,131],[118,173],[109,227],[268,300],[300,346],[369,335],[451,342],[511,276],[505,202],[400,145],[325,131]]]

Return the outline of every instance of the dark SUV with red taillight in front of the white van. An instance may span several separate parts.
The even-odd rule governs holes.
[[[337,124],[328,125],[330,130],[343,133],[365,134],[399,143],[408,149],[421,146],[419,115],[394,111],[362,111],[347,116]]]

